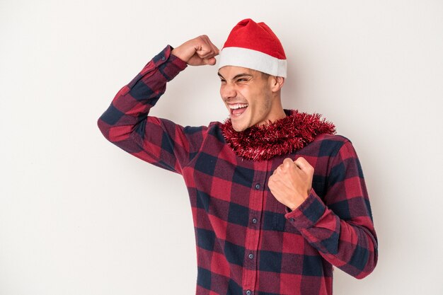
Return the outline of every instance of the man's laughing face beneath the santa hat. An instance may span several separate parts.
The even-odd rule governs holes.
[[[220,95],[234,130],[241,132],[275,119],[271,76],[240,66],[223,66],[219,69],[219,77],[222,82]]]

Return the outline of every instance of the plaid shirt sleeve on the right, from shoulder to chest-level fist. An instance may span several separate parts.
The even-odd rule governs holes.
[[[350,141],[330,164],[323,201],[311,190],[286,218],[332,265],[357,279],[374,270],[377,238],[362,168]]]

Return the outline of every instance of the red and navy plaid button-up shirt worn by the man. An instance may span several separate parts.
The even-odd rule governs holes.
[[[196,294],[332,294],[333,265],[359,279],[372,272],[376,233],[351,142],[321,134],[293,154],[248,161],[226,144],[220,122],[182,127],[148,116],[187,66],[171,50],[120,89],[98,127],[121,149],[183,175],[195,226]],[[311,194],[290,212],[267,180],[284,158],[298,156],[315,172]]]

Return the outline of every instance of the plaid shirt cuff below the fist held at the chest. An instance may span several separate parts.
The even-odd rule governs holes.
[[[289,219],[289,222],[297,229],[308,229],[314,226],[318,219],[321,219],[325,210],[326,205],[320,197],[318,197],[316,192],[311,189],[309,196],[297,209],[294,211],[286,209],[287,214],[285,214],[284,217]]]

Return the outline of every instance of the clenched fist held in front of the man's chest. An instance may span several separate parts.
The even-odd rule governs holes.
[[[292,161],[285,158],[274,170],[267,185],[278,202],[291,210],[297,209],[311,192],[313,167],[305,158]]]

